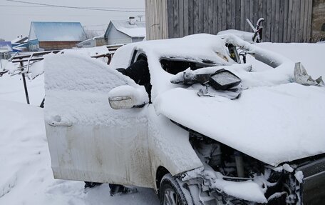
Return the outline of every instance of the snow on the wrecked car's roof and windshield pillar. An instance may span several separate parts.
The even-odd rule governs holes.
[[[173,75],[167,73],[161,67],[160,58],[162,57],[192,59],[198,62],[208,60],[220,66],[235,63],[228,54],[225,41],[219,36],[197,34],[180,39],[141,41],[127,44],[115,52],[110,66],[113,69],[127,68],[130,66],[130,60],[135,50],[144,52],[148,56],[151,82],[153,84],[152,99],[155,99],[161,92],[176,87],[170,83]]]

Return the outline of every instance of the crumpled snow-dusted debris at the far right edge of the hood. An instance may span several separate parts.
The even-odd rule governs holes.
[[[294,66],[294,79],[296,80],[296,83],[304,85],[304,86],[322,86],[324,85],[323,79],[321,79],[321,76],[314,80],[307,74],[306,69],[304,66],[298,62]]]

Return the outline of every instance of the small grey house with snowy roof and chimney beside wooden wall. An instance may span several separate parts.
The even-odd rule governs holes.
[[[136,21],[130,17],[128,21],[110,21],[104,34],[106,44],[129,44],[143,41],[145,38],[145,21]]]

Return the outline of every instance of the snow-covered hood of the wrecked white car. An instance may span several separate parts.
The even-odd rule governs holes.
[[[277,166],[325,153],[325,89],[296,83],[254,87],[239,99],[176,88],[154,101],[157,114]]]

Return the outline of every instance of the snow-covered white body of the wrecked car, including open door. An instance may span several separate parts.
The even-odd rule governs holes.
[[[227,41],[275,69],[248,72],[249,65],[234,65]],[[138,54],[148,58],[153,104],[114,110],[108,104],[111,89],[123,85],[141,89],[115,71],[130,66]],[[200,97],[195,86],[171,84],[174,75],[160,64],[164,57],[208,60],[215,69],[229,69],[242,79],[242,96],[233,101]],[[72,63],[80,69],[70,69]],[[294,62],[235,36],[195,35],[128,44],[116,51],[109,68],[95,59],[53,54],[46,57],[45,68],[46,134],[56,179],[157,191],[159,169],[175,176],[203,168],[189,132],[172,121],[271,166],[325,153],[324,88],[294,83]],[[311,104],[316,109],[309,109]],[[262,193],[254,200],[266,199]]]

